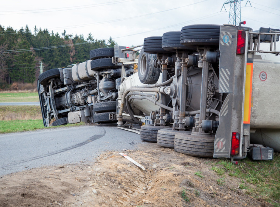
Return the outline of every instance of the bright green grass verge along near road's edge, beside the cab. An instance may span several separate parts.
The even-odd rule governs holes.
[[[62,126],[81,126],[84,122],[76,124],[67,124]],[[48,128],[56,128],[62,126],[53,126]],[[33,131],[36,129],[43,129],[44,127],[42,119],[30,119],[30,120],[12,120],[12,121],[0,121],[0,133],[11,133],[11,132],[24,132]]]

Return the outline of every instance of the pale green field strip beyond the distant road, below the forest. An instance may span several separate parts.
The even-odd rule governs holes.
[[[37,92],[0,93],[0,102],[39,102]]]

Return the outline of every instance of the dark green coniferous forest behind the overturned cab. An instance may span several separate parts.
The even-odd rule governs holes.
[[[83,35],[49,32],[48,29],[28,25],[15,30],[0,25],[0,88],[14,82],[34,83],[39,76],[40,64],[43,71],[66,67],[89,59],[89,51],[96,48],[114,47],[117,43],[110,38],[94,39],[89,33]]]

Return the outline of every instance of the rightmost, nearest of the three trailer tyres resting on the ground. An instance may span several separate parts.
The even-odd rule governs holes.
[[[214,136],[196,136],[179,133],[174,137],[174,150],[195,157],[213,158],[214,141]]]

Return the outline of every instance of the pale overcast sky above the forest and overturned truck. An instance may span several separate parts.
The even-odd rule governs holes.
[[[141,45],[145,37],[181,30],[193,24],[228,24],[226,0],[9,0],[1,4],[0,24],[19,30],[26,25],[50,32],[84,35],[95,39],[110,36],[118,45]],[[241,20],[254,30],[280,28],[280,0],[241,2]],[[166,11],[167,10],[167,11]]]

